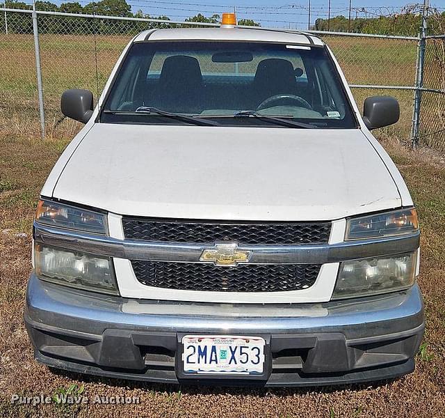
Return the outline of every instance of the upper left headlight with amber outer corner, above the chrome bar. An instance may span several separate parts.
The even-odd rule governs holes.
[[[106,215],[53,201],[41,200],[35,212],[41,224],[92,233],[106,234]]]

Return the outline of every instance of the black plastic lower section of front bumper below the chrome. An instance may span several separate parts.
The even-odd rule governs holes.
[[[378,341],[346,340],[341,332],[263,334],[269,365],[265,380],[214,379],[181,373],[177,367],[181,364],[176,364],[181,346],[175,332],[108,329],[102,335],[72,331],[67,335],[26,316],[25,320],[35,358],[48,366],[111,378],[218,385],[336,385],[395,378],[414,370],[414,355],[423,334],[423,324],[380,336]]]

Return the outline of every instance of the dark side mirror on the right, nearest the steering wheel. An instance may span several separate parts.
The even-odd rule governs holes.
[[[369,130],[396,123],[400,114],[398,101],[392,96],[373,96],[364,100],[363,121]]]

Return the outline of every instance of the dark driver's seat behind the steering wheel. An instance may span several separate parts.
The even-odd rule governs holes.
[[[279,58],[261,61],[255,73],[253,91],[257,105],[277,94],[295,94],[296,78],[291,61]]]

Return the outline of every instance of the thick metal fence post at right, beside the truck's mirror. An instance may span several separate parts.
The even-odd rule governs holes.
[[[417,61],[416,61],[416,80],[414,90],[414,106],[412,110],[412,125],[411,125],[411,141],[412,148],[419,145],[419,126],[420,126],[420,111],[423,88],[423,72],[425,70],[425,49],[426,49],[426,29],[428,23],[428,8],[430,7],[430,0],[423,0],[422,11],[422,26],[420,31],[420,39],[417,44]]]

